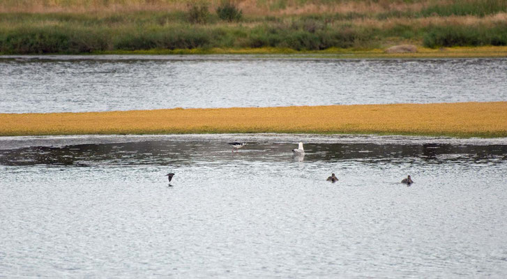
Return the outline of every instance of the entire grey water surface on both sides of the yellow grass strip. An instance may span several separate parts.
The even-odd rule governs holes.
[[[507,59],[0,57],[0,113],[494,101],[506,88]],[[506,177],[506,138],[0,137],[0,278],[506,278]]]

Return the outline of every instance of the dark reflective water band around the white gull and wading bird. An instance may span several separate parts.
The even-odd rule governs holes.
[[[294,143],[247,142],[234,152],[227,142],[144,141],[66,146],[29,146],[0,150],[1,165],[184,165],[196,162],[259,161],[291,162]],[[308,163],[357,160],[363,163],[428,164],[505,163],[507,145],[308,143],[305,155],[296,160]]]

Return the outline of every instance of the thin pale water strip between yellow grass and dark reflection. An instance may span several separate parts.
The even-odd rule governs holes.
[[[256,142],[256,143],[325,143],[325,144],[453,144],[507,145],[507,137],[453,138],[401,135],[319,135],[319,134],[180,134],[180,135],[39,135],[0,137],[0,150],[31,146],[68,146],[80,144],[115,144],[133,142]]]

